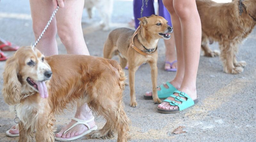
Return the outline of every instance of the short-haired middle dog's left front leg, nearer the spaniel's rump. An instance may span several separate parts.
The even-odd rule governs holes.
[[[130,96],[131,96],[130,106],[137,107],[134,80],[135,80],[135,72],[137,71],[138,67],[134,67],[131,65],[132,64],[129,64],[129,86],[130,86]]]

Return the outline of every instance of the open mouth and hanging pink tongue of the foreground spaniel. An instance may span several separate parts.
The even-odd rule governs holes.
[[[33,79],[29,77],[26,80],[29,85],[33,86],[39,92],[42,98],[47,98],[49,96],[47,92],[47,87],[44,81],[35,82]]]

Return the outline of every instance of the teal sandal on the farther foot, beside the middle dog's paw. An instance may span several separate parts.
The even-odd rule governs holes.
[[[169,81],[166,82],[166,85],[169,88],[165,88],[163,84],[159,86],[161,88],[161,90],[157,90],[157,95],[159,99],[166,99],[170,96],[170,94],[173,94],[173,92],[177,90]],[[152,100],[153,97],[144,95],[144,99]]]

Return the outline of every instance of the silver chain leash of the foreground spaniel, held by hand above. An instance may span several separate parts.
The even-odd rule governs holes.
[[[59,6],[57,6],[57,8],[53,11],[52,16],[50,17],[50,20],[47,22],[46,26],[44,27],[43,32],[41,33],[41,35],[38,37],[38,39],[36,40],[35,44],[32,46],[32,48],[34,49],[37,45],[37,43],[40,41],[40,39],[43,37],[46,29],[49,27],[50,23],[52,22],[53,17],[55,16],[56,12],[59,10]],[[14,105],[14,111],[15,111],[15,118],[14,118],[14,122],[15,123],[20,123],[20,118],[17,116],[17,111],[16,111],[16,105]]]

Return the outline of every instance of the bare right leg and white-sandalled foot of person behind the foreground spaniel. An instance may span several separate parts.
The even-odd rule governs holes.
[[[60,40],[64,44],[68,54],[90,55],[84,41],[81,25],[83,6],[84,1],[65,1],[65,7],[60,9],[56,14],[58,35],[60,36]],[[77,107],[75,118],[80,120],[89,120],[92,117],[91,109],[87,104]],[[63,127],[60,132],[56,134],[56,137],[70,138],[80,135],[88,130],[85,125],[78,124],[64,133],[64,131],[74,123],[76,123],[76,121],[71,120],[68,125]],[[95,122],[93,120],[88,124],[92,128],[95,125]]]

